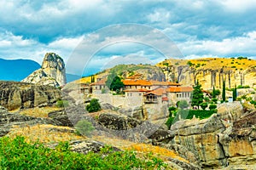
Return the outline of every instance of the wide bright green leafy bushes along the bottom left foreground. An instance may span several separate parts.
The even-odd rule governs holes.
[[[80,154],[67,142],[49,149],[38,142],[26,143],[24,137],[0,139],[1,169],[166,169],[157,157],[140,159],[134,151],[113,151],[104,147],[99,153]]]

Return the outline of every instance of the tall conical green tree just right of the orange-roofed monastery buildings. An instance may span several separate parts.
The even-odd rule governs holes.
[[[204,99],[204,94],[201,91],[201,84],[199,84],[199,82],[196,82],[196,85],[194,87],[193,90],[193,94],[192,94],[192,106],[197,106],[197,108],[199,109],[200,104],[203,102]]]

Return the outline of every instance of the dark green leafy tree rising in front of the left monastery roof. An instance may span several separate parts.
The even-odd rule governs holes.
[[[116,91],[120,90],[120,88],[124,88],[125,84],[121,81],[121,78],[116,75],[116,73],[112,72],[108,76],[108,80],[106,82],[106,85],[109,89]]]

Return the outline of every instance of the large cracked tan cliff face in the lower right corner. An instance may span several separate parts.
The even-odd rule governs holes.
[[[172,144],[183,145],[204,169],[255,166],[256,112],[244,114],[237,103],[229,108],[208,119],[175,123]]]

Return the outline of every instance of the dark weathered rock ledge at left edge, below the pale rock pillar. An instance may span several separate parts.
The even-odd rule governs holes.
[[[52,105],[61,99],[61,90],[50,86],[39,86],[26,82],[0,81],[0,105],[9,111]]]

